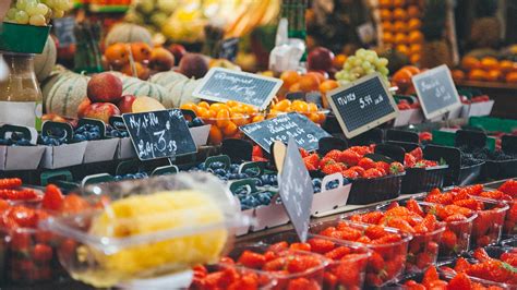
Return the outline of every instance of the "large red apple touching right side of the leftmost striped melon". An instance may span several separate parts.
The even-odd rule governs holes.
[[[122,81],[104,72],[92,76],[86,88],[92,102],[117,102],[122,97]]]

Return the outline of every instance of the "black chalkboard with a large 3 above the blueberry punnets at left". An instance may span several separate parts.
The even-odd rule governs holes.
[[[179,109],[124,113],[122,118],[141,160],[175,158],[197,152]]]

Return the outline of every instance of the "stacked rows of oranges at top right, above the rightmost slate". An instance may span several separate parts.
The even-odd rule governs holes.
[[[406,55],[411,63],[420,61],[423,34],[421,1],[380,0],[378,13],[382,21],[382,39],[386,47],[393,47]]]

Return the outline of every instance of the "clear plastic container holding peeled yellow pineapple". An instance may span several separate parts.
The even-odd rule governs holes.
[[[216,263],[232,246],[233,229],[250,223],[208,173],[89,185],[83,195],[100,209],[40,227],[68,243],[58,255],[70,275],[96,287]]]

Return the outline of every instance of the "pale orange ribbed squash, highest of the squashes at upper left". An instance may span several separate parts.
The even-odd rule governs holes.
[[[153,37],[145,27],[131,23],[120,23],[109,31],[105,40],[106,47],[117,43],[145,43],[153,46]]]

